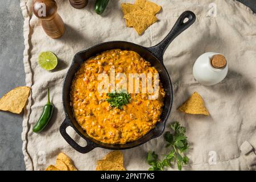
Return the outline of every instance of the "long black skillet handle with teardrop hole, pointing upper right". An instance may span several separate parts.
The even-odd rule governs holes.
[[[187,22],[184,20],[188,18]],[[188,27],[190,27],[196,21],[196,15],[192,11],[185,11],[179,16],[174,27],[169,34],[156,46],[148,47],[147,49],[153,53],[162,63],[163,55],[170,43]]]

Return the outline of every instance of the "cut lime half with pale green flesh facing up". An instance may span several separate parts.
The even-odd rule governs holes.
[[[43,69],[46,69],[47,71],[50,71],[54,68],[56,68],[58,64],[57,56],[55,56],[54,53],[50,51],[41,52],[38,56],[38,63],[40,67]]]

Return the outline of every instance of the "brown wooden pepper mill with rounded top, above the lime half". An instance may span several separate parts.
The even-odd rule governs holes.
[[[57,13],[57,3],[54,0],[34,0],[32,9],[48,36],[57,39],[64,34],[64,22]]]

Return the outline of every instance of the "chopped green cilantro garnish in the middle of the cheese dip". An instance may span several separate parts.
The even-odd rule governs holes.
[[[114,92],[108,93],[109,98],[106,101],[109,102],[110,106],[117,107],[118,109],[123,109],[123,105],[126,105],[130,102],[131,96],[126,92]]]

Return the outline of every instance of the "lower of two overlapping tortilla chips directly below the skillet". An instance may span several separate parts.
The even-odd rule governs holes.
[[[98,171],[126,171],[120,164],[110,160],[98,160]]]

